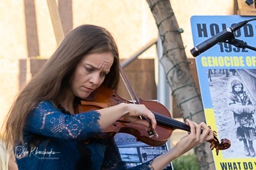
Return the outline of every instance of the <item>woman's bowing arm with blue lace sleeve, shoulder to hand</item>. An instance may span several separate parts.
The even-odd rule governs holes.
[[[156,127],[154,114],[142,104],[118,104],[98,111],[65,115],[51,102],[38,104],[29,113],[24,129],[35,134],[63,139],[85,139],[99,134],[102,129],[124,116],[128,121],[148,125],[138,116],[148,117]]]

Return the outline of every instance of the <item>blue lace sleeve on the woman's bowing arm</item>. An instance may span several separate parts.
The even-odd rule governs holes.
[[[26,118],[24,131],[61,139],[85,139],[101,132],[100,113],[65,115],[49,101],[36,105]]]

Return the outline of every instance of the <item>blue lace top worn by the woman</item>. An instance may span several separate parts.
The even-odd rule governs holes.
[[[67,114],[67,115],[66,115]],[[89,111],[77,115],[63,114],[49,101],[39,103],[30,111],[24,126],[25,145],[14,147],[19,169],[76,169],[81,158],[77,149],[83,139],[89,142],[92,166],[83,169],[127,169],[122,161],[115,139],[92,138],[100,134],[100,113]],[[29,148],[31,139],[43,138],[35,147]],[[129,169],[154,169],[153,160]]]

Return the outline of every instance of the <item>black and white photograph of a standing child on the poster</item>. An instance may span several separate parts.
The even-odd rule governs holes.
[[[256,69],[208,69],[218,138],[232,145],[223,159],[255,158]]]

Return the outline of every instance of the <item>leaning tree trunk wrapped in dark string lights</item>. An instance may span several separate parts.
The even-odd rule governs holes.
[[[163,57],[160,62],[166,72],[166,78],[182,118],[189,118],[197,123],[205,122],[202,100],[189,71],[189,62],[180,36],[179,25],[170,1],[147,0],[147,2],[156,20],[163,44]],[[209,143],[197,146],[195,154],[200,169],[215,169]]]

